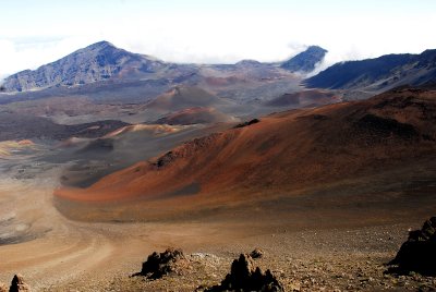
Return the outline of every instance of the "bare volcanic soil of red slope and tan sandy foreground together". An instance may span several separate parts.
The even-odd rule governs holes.
[[[431,290],[433,278],[384,264],[435,215],[435,92],[401,88],[229,125],[86,188],[60,185],[50,162],[27,180],[10,167],[0,281],[20,272],[35,291],[194,291],[258,247],[255,264],[286,291]],[[185,270],[130,277],[168,246],[187,255]]]

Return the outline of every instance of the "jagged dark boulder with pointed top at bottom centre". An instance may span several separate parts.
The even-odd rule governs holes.
[[[230,273],[226,276],[221,284],[215,285],[206,291],[279,292],[284,290],[270,270],[267,270],[265,273],[262,272],[259,267],[254,267],[253,259],[250,255],[241,254],[239,259],[233,260]]]

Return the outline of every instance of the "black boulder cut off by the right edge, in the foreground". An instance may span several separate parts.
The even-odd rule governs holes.
[[[397,266],[389,271],[436,275],[436,217],[425,221],[421,230],[409,233],[409,239],[389,265]]]

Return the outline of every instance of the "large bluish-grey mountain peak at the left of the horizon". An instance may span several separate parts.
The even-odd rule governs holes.
[[[4,80],[7,92],[26,92],[51,86],[76,86],[109,78],[141,77],[165,66],[156,59],[117,48],[102,40],[78,49],[37,70],[25,70]]]

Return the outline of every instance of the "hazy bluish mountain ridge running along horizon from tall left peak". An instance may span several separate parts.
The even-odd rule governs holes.
[[[308,47],[307,50],[313,50],[315,47]],[[292,69],[280,68],[281,63],[263,63],[256,60],[241,60],[234,64],[182,64],[130,52],[102,40],[75,50],[36,70],[24,70],[12,74],[4,78],[2,86],[7,93],[22,93],[60,86],[74,87],[106,81],[155,80],[172,84],[192,84],[207,77],[207,72],[206,75],[203,74],[207,69],[215,71],[214,74],[217,76],[220,76],[222,72],[245,71],[250,78],[262,80],[262,75],[266,74],[265,80],[267,80],[270,78],[268,71],[276,71],[272,75],[277,75],[277,71],[279,71],[278,75],[304,72],[310,70],[306,63],[313,63],[313,57],[310,53],[302,52],[293,58],[298,58],[300,61]],[[293,58],[284,63],[292,61]],[[312,58],[312,61],[303,62],[304,58]],[[259,74],[259,71],[264,70],[265,73]],[[259,75],[261,77],[258,77]]]

